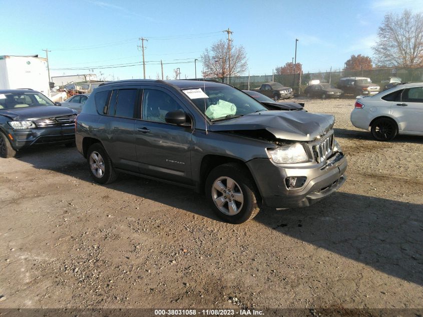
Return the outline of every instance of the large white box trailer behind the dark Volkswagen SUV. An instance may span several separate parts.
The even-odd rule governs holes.
[[[30,88],[50,97],[47,59],[33,56],[0,56],[0,89]]]

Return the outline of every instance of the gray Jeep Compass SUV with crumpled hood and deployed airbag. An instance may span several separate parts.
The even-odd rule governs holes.
[[[332,115],[269,110],[221,83],[129,80],[94,90],[76,143],[98,183],[123,172],[179,184],[242,223],[262,203],[308,206],[344,183],[333,125]]]

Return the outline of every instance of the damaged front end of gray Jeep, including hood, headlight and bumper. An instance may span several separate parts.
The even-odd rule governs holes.
[[[268,158],[248,165],[263,202],[305,207],[345,182],[347,161],[333,133],[332,115],[269,111],[213,124],[210,130],[266,141]]]

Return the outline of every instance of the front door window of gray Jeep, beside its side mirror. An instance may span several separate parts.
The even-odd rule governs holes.
[[[175,99],[161,90],[145,89],[142,118],[148,121],[166,122],[165,116],[170,111],[183,110]]]

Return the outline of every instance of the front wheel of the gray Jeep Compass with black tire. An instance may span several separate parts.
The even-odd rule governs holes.
[[[235,182],[235,185],[232,187],[233,190],[231,193],[229,193],[230,190],[228,191],[228,188],[230,187],[227,186],[227,182],[225,183],[225,178],[230,178]],[[221,181],[221,184],[226,186],[225,194],[223,193],[223,191],[216,190],[216,188],[213,186],[215,181],[218,181],[219,179],[223,179]],[[223,220],[233,224],[243,223],[254,218],[260,210],[260,195],[255,186],[254,180],[251,177],[248,168],[240,164],[226,163],[215,167],[207,176],[205,183],[205,193],[206,198],[209,201],[210,206],[216,213],[216,215],[222,218]],[[221,199],[221,201],[225,200],[225,202],[223,202],[220,208],[226,209],[229,212],[229,201],[231,201],[231,196],[234,197],[232,193],[234,195],[239,195],[239,193],[241,193],[242,204],[239,203],[236,198],[232,198],[231,203],[237,206],[238,211],[236,214],[233,215],[227,213],[225,214],[219,209],[219,207],[215,203],[215,199]],[[220,196],[219,194],[222,195]],[[224,198],[226,197],[224,195],[228,195],[228,198]],[[257,200],[259,201],[258,203]]]

